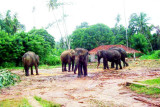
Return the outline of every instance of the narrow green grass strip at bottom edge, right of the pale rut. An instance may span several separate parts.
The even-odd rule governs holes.
[[[42,107],[61,107],[60,104],[56,104],[51,101],[44,100],[41,97],[34,96],[34,98],[42,105]]]

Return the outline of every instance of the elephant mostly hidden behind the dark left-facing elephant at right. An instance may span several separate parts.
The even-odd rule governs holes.
[[[123,67],[129,66],[128,63],[125,61],[125,58],[127,57],[127,53],[123,48],[120,47],[112,47],[109,48],[109,50],[117,50],[121,54],[121,61],[123,62]],[[111,63],[111,67],[114,68],[114,63]]]

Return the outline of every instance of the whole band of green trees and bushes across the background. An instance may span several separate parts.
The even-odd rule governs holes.
[[[113,28],[103,23],[89,25],[83,22],[66,40],[61,38],[57,43],[45,29],[33,28],[24,32],[25,26],[19,22],[17,14],[11,16],[7,11],[5,16],[0,16],[0,67],[22,66],[21,59],[27,51],[38,54],[40,64],[57,65],[60,64],[61,52],[69,47],[91,50],[99,45],[128,44],[145,54],[160,49],[160,28],[148,24],[149,18],[145,13],[133,13],[128,29],[119,24],[120,15],[116,17]],[[151,34],[153,29],[157,32]]]

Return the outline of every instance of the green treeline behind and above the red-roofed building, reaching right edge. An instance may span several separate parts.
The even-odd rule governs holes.
[[[149,24],[149,18],[145,13],[139,15],[133,13],[127,29],[120,24],[120,20],[120,15],[117,15],[113,28],[102,23],[91,26],[87,22],[81,23],[70,35],[71,48],[83,47],[91,50],[100,45],[121,44],[127,46],[128,42],[128,47],[143,53],[160,49],[160,28]],[[151,33],[154,29],[156,32]]]

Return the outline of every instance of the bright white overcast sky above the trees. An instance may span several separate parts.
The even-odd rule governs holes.
[[[49,0],[0,0],[0,13],[4,16],[7,10],[18,14],[19,21],[25,25],[26,31],[36,26],[37,29],[45,28],[48,23],[54,22],[53,12],[49,11],[47,3]],[[68,34],[72,34],[77,25],[81,22],[88,22],[89,25],[103,23],[109,27],[114,27],[115,18],[121,16],[121,24],[124,21],[124,3],[127,23],[132,13],[144,12],[150,17],[150,23],[160,25],[160,0],[60,0],[69,2],[71,5],[64,6],[66,25]],[[32,13],[33,6],[35,12]],[[62,8],[55,11],[57,19],[62,16]],[[60,29],[64,36],[63,25]],[[60,39],[60,33],[56,24],[47,31]]]

